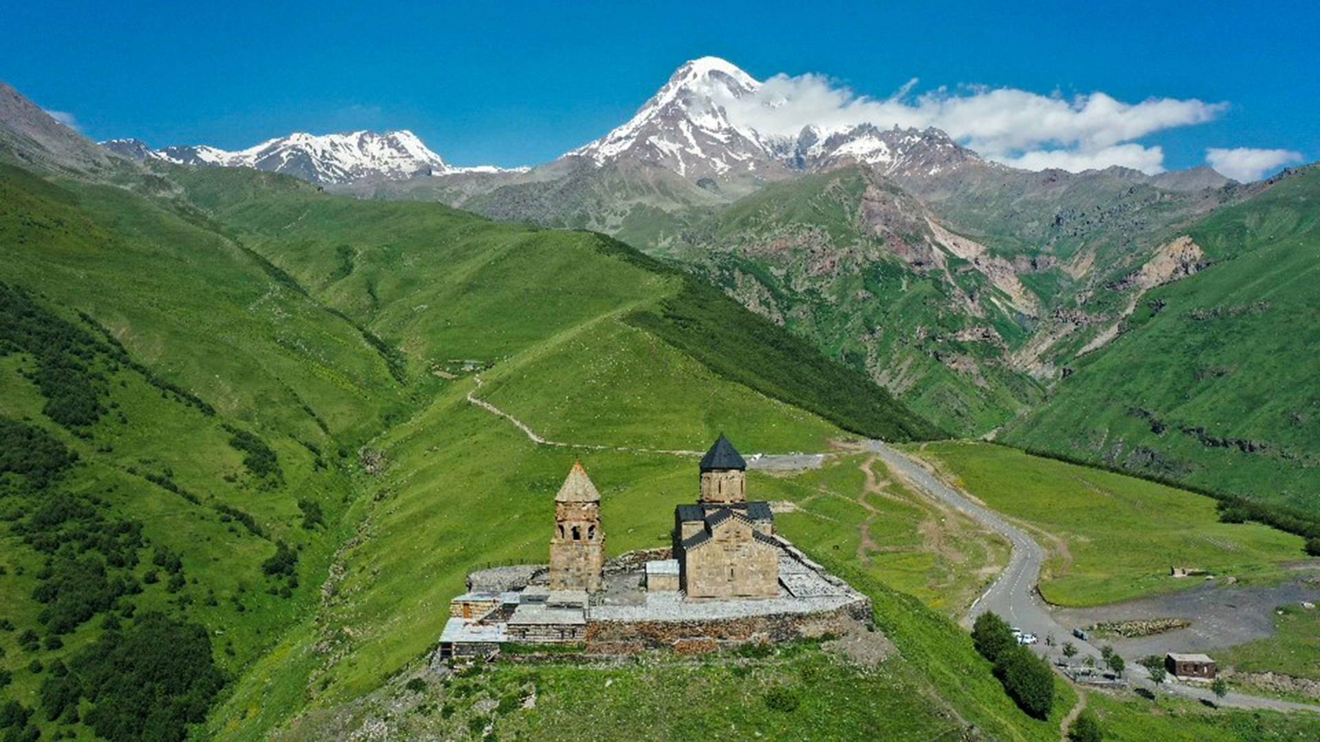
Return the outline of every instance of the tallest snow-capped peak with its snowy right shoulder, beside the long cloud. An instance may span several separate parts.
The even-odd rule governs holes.
[[[642,160],[688,178],[822,170],[865,162],[892,176],[932,176],[981,161],[939,129],[808,125],[796,136],[760,133],[733,119],[731,100],[755,95],[762,83],[738,66],[702,57],[678,67],[626,124],[565,154],[605,165]],[[774,106],[774,100],[762,102]]]

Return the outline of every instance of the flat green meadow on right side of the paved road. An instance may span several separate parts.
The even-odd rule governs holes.
[[[1203,495],[990,444],[931,444],[919,453],[1045,535],[1040,591],[1053,603],[1101,605],[1195,585],[1170,578],[1171,565],[1270,578],[1304,557],[1298,536],[1218,523],[1214,500]]]

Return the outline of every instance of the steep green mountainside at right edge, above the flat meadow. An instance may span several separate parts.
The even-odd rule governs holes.
[[[1317,202],[1308,169],[1196,224],[1214,264],[1152,290],[1005,440],[1320,512]]]

